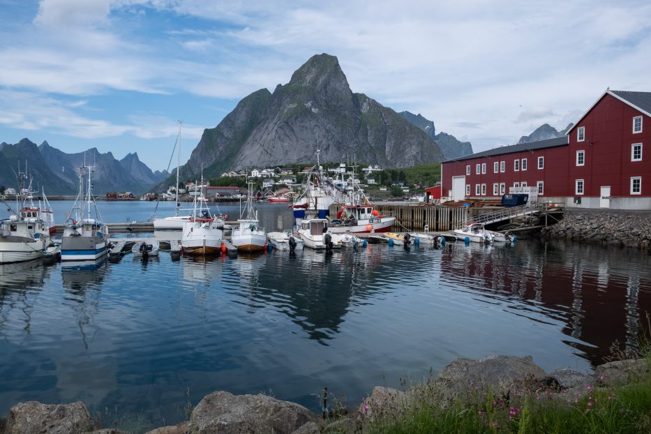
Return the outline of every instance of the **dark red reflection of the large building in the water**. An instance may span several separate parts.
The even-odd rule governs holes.
[[[622,350],[637,347],[641,313],[651,308],[648,255],[562,243],[532,244],[518,255],[500,246],[464,247],[449,244],[441,257],[444,275],[465,280],[460,290],[481,292],[532,320],[544,313],[542,321],[562,321],[567,345],[593,366],[614,341],[625,343]]]

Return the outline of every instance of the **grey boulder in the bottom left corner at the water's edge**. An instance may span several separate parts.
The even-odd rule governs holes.
[[[83,403],[48,405],[36,401],[11,407],[6,434],[77,434],[100,429]]]

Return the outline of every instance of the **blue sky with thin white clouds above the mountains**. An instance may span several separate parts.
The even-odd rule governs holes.
[[[314,54],[474,151],[651,91],[648,1],[0,0],[0,142],[184,163],[204,128]],[[174,156],[174,159],[176,156]],[[172,168],[175,163],[172,163]]]

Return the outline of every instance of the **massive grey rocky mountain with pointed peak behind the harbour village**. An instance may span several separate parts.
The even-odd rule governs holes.
[[[410,167],[443,159],[424,131],[363,93],[352,93],[338,59],[317,54],[271,93],[242,99],[204,130],[184,173],[216,177],[239,167],[310,163],[353,154],[364,163]]]

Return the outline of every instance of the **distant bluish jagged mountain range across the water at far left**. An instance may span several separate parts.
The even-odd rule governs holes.
[[[132,191],[135,194],[150,190],[165,179],[167,172],[151,172],[138,159],[128,154],[116,160],[110,152],[100,153],[96,148],[77,154],[66,154],[47,142],[40,146],[28,139],[17,144],[0,144],[0,184],[17,187],[17,172],[27,171],[33,188],[45,188],[47,195],[74,195],[79,186],[78,168],[87,163],[95,166],[93,191],[100,195],[110,191]]]

